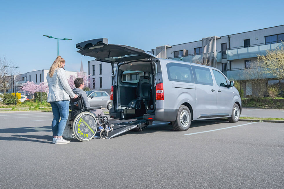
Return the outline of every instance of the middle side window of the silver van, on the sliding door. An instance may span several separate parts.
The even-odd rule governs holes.
[[[196,84],[213,85],[213,79],[209,68],[192,66],[192,71]]]

